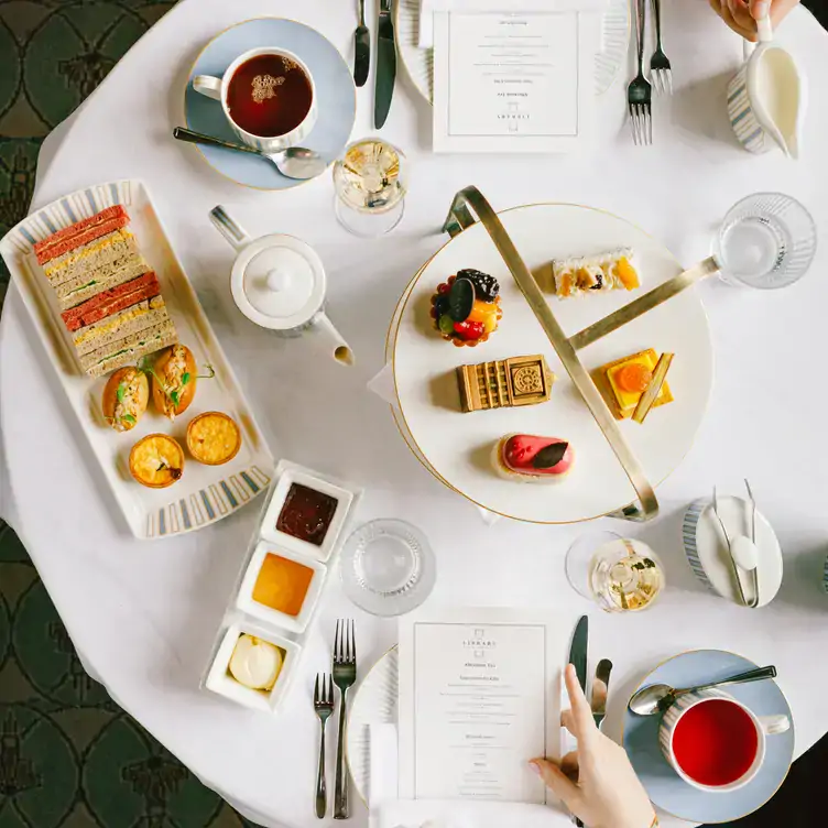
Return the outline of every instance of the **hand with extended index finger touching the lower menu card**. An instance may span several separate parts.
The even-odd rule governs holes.
[[[655,811],[623,748],[596,727],[575,667],[564,674],[569,710],[560,720],[578,740],[560,766],[545,759],[530,763],[569,810],[589,828],[651,828]]]

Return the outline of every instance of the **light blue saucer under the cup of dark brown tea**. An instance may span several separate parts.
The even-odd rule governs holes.
[[[221,77],[243,52],[273,46],[302,58],[316,85],[318,116],[303,146],[316,150],[330,164],[348,143],[357,115],[357,90],[351,70],[336,46],[319,32],[293,20],[259,18],[226,29],[214,37],[198,56],[187,80],[184,112],[187,127],[196,132],[239,141],[225,118],[221,103],[193,88],[196,75]],[[287,189],[302,184],[286,178],[266,159],[217,146],[196,145],[207,163],[239,184],[259,189]]]

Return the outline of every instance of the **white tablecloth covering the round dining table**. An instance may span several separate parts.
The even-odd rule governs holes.
[[[443,220],[467,185],[479,187],[495,209],[565,201],[609,210],[662,240],[687,266],[709,254],[727,209],[752,192],[798,198],[828,238],[828,95],[818,88],[828,77],[828,34],[804,8],[776,33],[811,79],[798,161],[778,151],[751,155],[736,142],[726,89],[742,62],[742,43],[702,0],[665,4],[675,94],[654,99],[652,146],[633,145],[627,121],[632,44],[629,67],[598,100],[593,145],[569,155],[433,153],[429,105],[401,70],[381,135],[411,162],[405,216],[391,235],[366,240],[338,225],[329,173],[290,190],[260,192],[217,174],[193,146],[172,138],[184,123],[190,66],[216,33],[255,17],[298,18],[351,63],[356,7],[356,0],[182,0],[46,141],[32,208],[99,182],[143,181],[274,455],[362,487],[358,523],[399,518],[421,527],[437,558],[434,604],[545,607],[567,623],[588,612],[590,657],[615,665],[606,728],[611,736],[619,737],[632,688],[657,663],[684,651],[720,649],[776,665],[800,755],[828,730],[828,596],[821,580],[828,383],[820,356],[828,353],[828,247],[818,249],[805,279],[783,291],[751,292],[719,280],[694,288],[709,317],[715,384],[694,446],[658,487],[661,513],[649,523],[490,524],[418,464],[388,403],[367,385],[383,367],[396,302],[447,240]],[[369,2],[375,33],[374,21]],[[357,94],[353,139],[374,133],[373,66]],[[217,204],[252,235],[290,233],[318,251],[329,280],[328,313],[353,349],[355,366],[337,364],[301,338],[274,338],[238,312],[229,285],[232,251],[208,219]],[[329,668],[337,618],[356,619],[360,676],[395,643],[394,621],[350,606],[333,579],[301,673],[276,715],[199,689],[259,504],[204,531],[133,538],[100,483],[13,283],[0,326],[0,416],[2,516],[29,551],[88,672],[250,819],[288,828],[320,824],[314,815],[314,677]],[[709,497],[713,486],[741,494],[743,478],[784,555],[782,588],[759,610],[706,591],[682,548],[688,503]],[[622,531],[658,552],[667,587],[652,609],[602,613],[568,586],[566,551],[596,529]],[[333,767],[331,753],[330,785]],[[351,822],[367,825],[364,804],[358,796],[352,802]],[[683,825],[663,817],[663,825]],[[557,819],[551,824],[568,824],[564,814]],[[333,825],[328,820],[322,824]]]

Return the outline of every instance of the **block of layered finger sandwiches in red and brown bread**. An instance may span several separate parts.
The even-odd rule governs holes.
[[[155,273],[122,205],[34,246],[80,367],[100,377],[178,340]]]

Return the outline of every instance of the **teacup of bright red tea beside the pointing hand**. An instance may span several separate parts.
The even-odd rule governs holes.
[[[679,696],[664,713],[658,741],[685,782],[702,791],[729,792],[759,773],[765,738],[789,727],[787,716],[756,716],[721,690],[696,690]]]

